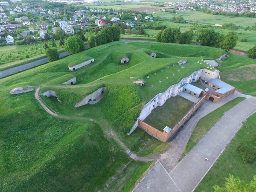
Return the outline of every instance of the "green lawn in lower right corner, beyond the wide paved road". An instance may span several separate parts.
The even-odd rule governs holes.
[[[214,185],[224,187],[225,177],[229,177],[229,174],[240,177],[246,183],[253,180],[253,175],[256,173],[256,160],[253,163],[244,163],[239,152],[239,147],[246,144],[256,150],[256,146],[253,144],[255,135],[256,113],[250,116],[247,122],[244,122],[244,125],[229,145],[227,145],[223,154],[221,154],[195,191],[213,191],[212,186]]]

